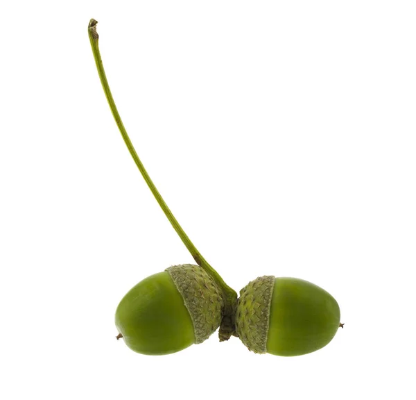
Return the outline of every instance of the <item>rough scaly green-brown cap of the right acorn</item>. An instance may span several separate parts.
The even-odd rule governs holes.
[[[240,290],[236,332],[250,351],[267,353],[267,337],[275,276],[261,276]]]

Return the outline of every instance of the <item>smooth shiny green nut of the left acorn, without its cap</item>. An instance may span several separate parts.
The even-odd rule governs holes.
[[[116,327],[125,344],[141,354],[175,353],[195,343],[191,316],[168,272],[148,276],[123,297]]]

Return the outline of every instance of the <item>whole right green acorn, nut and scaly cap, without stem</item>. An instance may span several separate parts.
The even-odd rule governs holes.
[[[336,300],[302,279],[262,276],[240,292],[236,332],[254,353],[311,353],[331,342],[339,326]]]

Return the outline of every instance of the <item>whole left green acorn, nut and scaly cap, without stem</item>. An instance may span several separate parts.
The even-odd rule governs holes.
[[[220,326],[223,298],[198,265],[176,265],[137,283],[116,309],[116,327],[137,353],[162,355],[202,343]]]

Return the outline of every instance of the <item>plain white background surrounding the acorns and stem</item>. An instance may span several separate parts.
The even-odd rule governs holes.
[[[345,328],[280,358],[116,341],[138,281],[193,260],[295,276]],[[414,399],[413,1],[14,1],[0,15],[3,399]],[[413,371],[412,371],[413,370]]]

